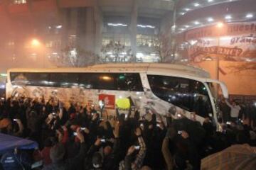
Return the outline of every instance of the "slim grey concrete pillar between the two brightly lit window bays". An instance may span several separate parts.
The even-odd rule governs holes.
[[[132,61],[136,61],[137,54],[137,22],[138,22],[138,2],[139,0],[134,0],[134,5],[132,7],[131,14],[131,26],[130,26],[130,38],[131,38],[131,48],[132,48]]]

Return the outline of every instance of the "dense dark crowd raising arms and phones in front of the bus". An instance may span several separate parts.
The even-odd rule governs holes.
[[[230,145],[256,146],[255,130],[250,123],[230,121],[217,131],[207,117],[201,125],[193,118],[141,117],[139,111],[124,114],[118,108],[110,123],[94,106],[8,98],[0,101],[0,132],[39,147],[0,155],[0,169],[31,169],[40,160],[36,169],[201,169],[203,157]]]

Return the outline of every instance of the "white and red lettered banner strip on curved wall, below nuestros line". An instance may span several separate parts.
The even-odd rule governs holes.
[[[188,56],[193,61],[211,56],[230,61],[256,60],[256,34],[206,37],[188,42]]]

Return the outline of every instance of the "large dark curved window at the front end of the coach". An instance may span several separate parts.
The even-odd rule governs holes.
[[[164,101],[206,118],[213,113],[206,86],[181,77],[148,75],[153,93]]]

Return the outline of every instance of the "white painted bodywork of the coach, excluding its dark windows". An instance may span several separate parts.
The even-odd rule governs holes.
[[[80,89],[75,88],[53,88],[53,87],[39,87],[39,86],[13,86],[11,85],[10,72],[106,72],[106,73],[139,73],[142,79],[142,86],[144,91],[110,91],[110,90],[95,90],[95,89]],[[161,100],[156,97],[150,89],[147,75],[162,75],[171,77],[182,77],[187,79],[193,79],[201,81],[206,84],[207,79],[210,76],[207,72],[194,67],[186,67],[174,64],[102,64],[87,68],[64,68],[64,69],[10,69],[8,71],[8,83],[6,84],[6,96],[22,95],[31,98],[41,98],[44,96],[46,101],[49,98],[60,99],[68,106],[68,103],[79,103],[81,106],[86,105],[98,105],[99,95],[107,94],[113,95],[115,100],[118,98],[132,98],[134,106],[139,109],[141,115],[144,115],[146,111],[156,113],[165,116],[170,114],[173,118],[178,118],[177,115],[181,114],[188,118],[191,117],[191,113],[188,111],[174,106],[171,103]],[[206,84],[207,86],[207,84]],[[208,94],[212,100],[209,89]],[[213,103],[211,103],[212,106]],[[123,111],[124,113],[126,111]],[[213,108],[215,112],[215,108]],[[122,113],[122,111],[120,111]],[[215,113],[213,113],[215,115]],[[115,110],[107,109],[105,112],[105,118],[108,120],[114,120]],[[196,119],[203,123],[204,118],[196,115]]]

